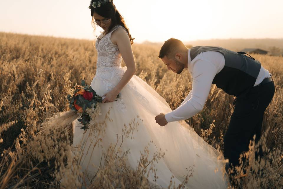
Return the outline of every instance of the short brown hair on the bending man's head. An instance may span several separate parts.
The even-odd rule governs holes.
[[[162,45],[158,57],[163,58],[164,56],[167,56],[167,58],[173,58],[176,53],[186,53],[187,50],[188,48],[182,41],[175,38],[170,38]]]

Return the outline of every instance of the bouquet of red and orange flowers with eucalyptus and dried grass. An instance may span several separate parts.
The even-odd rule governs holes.
[[[119,94],[117,96],[119,98]],[[97,103],[102,102],[104,97],[99,96],[96,92],[85,84],[82,80],[81,85],[77,85],[73,96],[68,94],[67,99],[69,101],[70,111],[53,113],[54,116],[48,118],[46,123],[42,124],[42,131],[52,130],[56,128],[62,128],[70,126],[70,124],[78,119],[82,123],[81,129],[88,129],[91,121],[91,112],[96,109]]]

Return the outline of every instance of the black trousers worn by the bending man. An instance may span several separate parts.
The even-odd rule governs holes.
[[[266,107],[274,95],[274,82],[255,86],[245,95],[237,97],[235,109],[224,136],[224,157],[229,159],[229,167],[239,164],[240,154],[249,149],[249,141],[261,136],[261,126]],[[260,154],[259,154],[260,155]],[[226,167],[228,168],[228,167]]]

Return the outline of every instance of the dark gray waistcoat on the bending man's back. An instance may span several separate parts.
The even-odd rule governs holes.
[[[216,84],[218,88],[234,96],[240,96],[246,89],[254,86],[261,68],[259,61],[225,48],[213,46],[192,47],[191,61],[198,54],[206,51],[217,51],[225,58],[225,66],[215,75],[212,84]]]

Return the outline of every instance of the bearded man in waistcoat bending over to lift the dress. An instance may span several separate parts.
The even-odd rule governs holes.
[[[274,82],[269,71],[259,61],[244,54],[213,46],[188,49],[174,38],[165,41],[159,52],[159,58],[168,70],[180,74],[187,68],[192,77],[192,90],[182,104],[170,113],[155,117],[160,126],[188,119],[200,112],[211,84],[236,96],[224,136],[224,157],[229,159],[229,166],[239,164],[240,154],[248,150],[254,135],[255,141],[259,141],[264,111],[274,95]]]

